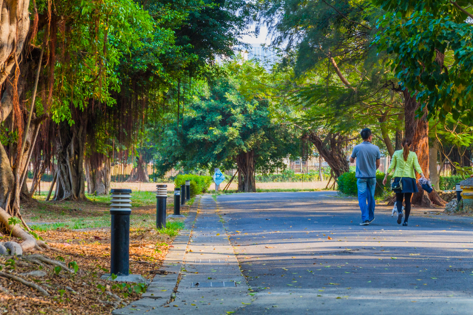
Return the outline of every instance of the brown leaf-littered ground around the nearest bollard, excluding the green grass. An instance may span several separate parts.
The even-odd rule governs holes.
[[[94,209],[95,210],[95,209]],[[155,211],[140,209],[139,212]],[[50,296],[17,281],[0,277],[0,314],[8,315],[106,315],[140,298],[139,287],[129,284],[123,288],[116,282],[101,280],[110,270],[110,228],[56,230],[38,232],[51,250],[32,252],[50,259],[76,262],[79,270],[69,273],[55,266],[29,263],[21,257],[0,256],[2,272],[8,272],[36,283]],[[8,235],[3,235],[6,241]],[[12,238],[14,240],[14,238]],[[161,267],[173,238],[159,234],[153,228],[130,230],[130,272],[151,280]],[[19,240],[20,241],[20,240]],[[31,253],[27,253],[31,254]],[[74,266],[74,263],[70,265]],[[47,275],[34,277],[21,275],[42,270]],[[170,293],[171,294],[171,293]]]

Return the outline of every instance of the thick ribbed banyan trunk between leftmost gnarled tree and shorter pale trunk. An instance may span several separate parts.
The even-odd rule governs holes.
[[[80,109],[75,109],[77,111]],[[53,200],[85,200],[84,151],[87,109],[73,116],[74,124],[62,122],[57,139],[57,182]]]

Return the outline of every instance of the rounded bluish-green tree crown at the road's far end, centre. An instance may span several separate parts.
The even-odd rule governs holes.
[[[252,69],[252,70],[251,70]],[[182,130],[169,125],[159,148],[157,173],[178,165],[184,170],[235,168],[236,156],[254,150],[255,169],[282,167],[283,158],[299,149],[295,132],[271,118],[263,90],[246,84],[266,73],[257,64],[225,64],[222,76],[202,84],[201,95],[189,105]],[[247,74],[247,76],[245,76]],[[252,91],[252,92],[250,92]],[[250,96],[251,95],[251,96]]]

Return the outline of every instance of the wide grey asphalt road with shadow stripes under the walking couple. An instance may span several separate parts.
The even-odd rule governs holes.
[[[335,192],[220,195],[253,300],[237,314],[473,314],[473,220],[391,209],[360,226]]]

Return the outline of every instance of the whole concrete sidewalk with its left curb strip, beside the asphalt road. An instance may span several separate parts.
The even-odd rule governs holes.
[[[173,269],[180,272],[177,284],[172,282],[175,274],[156,276],[141,300],[113,314],[218,315],[231,314],[228,312],[250,304],[252,297],[222,221],[215,200],[203,196],[182,261],[173,249],[166,257],[167,266],[163,266],[167,271],[172,265],[180,266],[180,270]],[[177,241],[173,246],[183,240]],[[169,255],[175,256],[170,263]],[[169,299],[169,288],[174,286],[176,293]]]

